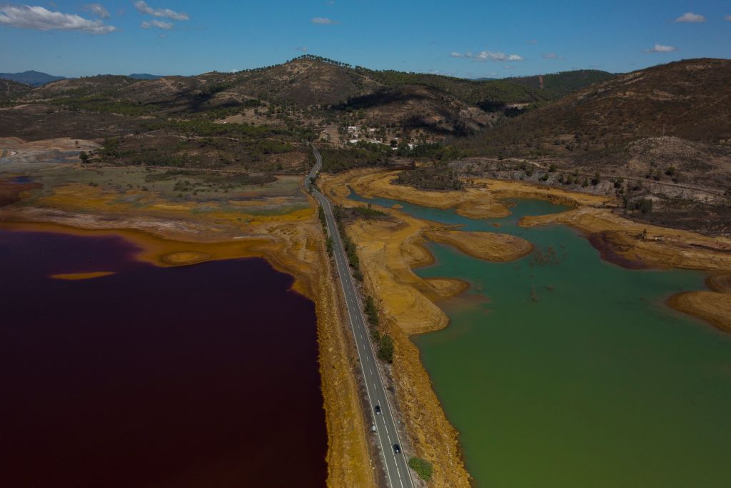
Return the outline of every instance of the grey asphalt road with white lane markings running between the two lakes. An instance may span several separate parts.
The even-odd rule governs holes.
[[[370,332],[366,326],[366,319],[363,317],[363,307],[361,307],[360,299],[355,292],[355,285],[350,274],[350,266],[343,249],[343,243],[338,233],[338,226],[333,216],[333,207],[330,206],[330,200],[325,198],[317,188],[312,187],[310,179],[317,175],[322,167],[322,156],[316,148],[312,148],[315,157],[315,165],[310,170],[305,180],[306,189],[312,190],[312,196],[317,199],[322,209],[325,211],[325,220],[327,222],[327,233],[333,239],[333,254],[335,255],[336,268],[338,277],[343,289],[343,296],[348,309],[348,317],[350,326],[355,338],[355,345],[358,351],[358,359],[360,359],[360,368],[363,370],[363,378],[366,381],[366,390],[368,391],[368,404],[371,406],[371,418],[374,418],[376,424],[376,437],[378,445],[381,448],[381,454],[386,467],[386,477],[390,487],[404,488],[413,487],[414,482],[411,478],[409,465],[406,462],[406,454],[404,448],[401,448],[401,454],[395,454],[393,445],[401,446],[398,440],[398,431],[396,430],[393,416],[391,415],[391,405],[386,396],[386,390],[383,386],[383,378],[381,371],[376,362],[376,353],[371,344]],[[375,408],[378,405],[381,408],[382,415],[376,415]]]

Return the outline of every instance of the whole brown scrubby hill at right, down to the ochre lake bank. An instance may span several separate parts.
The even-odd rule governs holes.
[[[731,233],[719,224],[731,222],[731,60],[618,75],[455,146],[497,161],[498,177],[617,195],[630,210],[644,201],[639,219]]]

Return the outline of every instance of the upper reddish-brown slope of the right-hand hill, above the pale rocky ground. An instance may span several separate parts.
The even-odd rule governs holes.
[[[580,89],[482,136],[509,151],[567,155],[664,135],[718,143],[731,138],[730,120],[731,60],[691,59]]]

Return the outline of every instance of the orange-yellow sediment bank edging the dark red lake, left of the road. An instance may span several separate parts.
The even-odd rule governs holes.
[[[108,203],[108,202],[107,202]],[[360,404],[355,364],[349,355],[338,299],[327,270],[324,240],[313,208],[241,224],[234,215],[213,222],[200,216],[139,214],[129,208],[107,214],[106,205],[89,209],[75,202],[51,208],[0,210],[0,228],[79,236],[121,236],[139,248],[137,259],[155,266],[189,266],[205,260],[262,257],[295,277],[293,289],[314,300],[317,310],[319,368],[327,424],[327,485],[375,486]],[[187,210],[186,210],[187,212]],[[113,217],[113,218],[110,218]],[[59,276],[80,278],[84,274]],[[90,278],[91,274],[83,276]]]

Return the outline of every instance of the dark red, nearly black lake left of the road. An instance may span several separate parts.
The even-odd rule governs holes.
[[[162,269],[0,230],[0,487],[321,487],[314,304],[261,259]],[[116,271],[80,281],[51,274]]]

